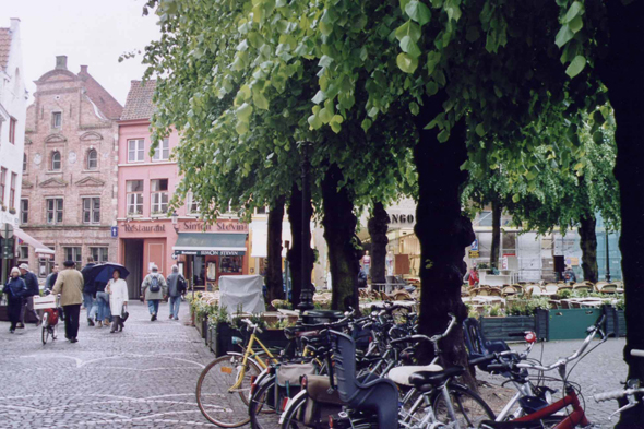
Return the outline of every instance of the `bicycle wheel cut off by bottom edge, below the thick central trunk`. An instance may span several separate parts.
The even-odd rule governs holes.
[[[450,390],[450,401],[454,407],[456,421],[458,421],[461,428],[478,428],[481,421],[494,419],[494,413],[475,392],[458,384],[450,384],[448,389]],[[436,393],[433,413],[437,419],[443,424],[453,421],[448,413],[442,391]]]

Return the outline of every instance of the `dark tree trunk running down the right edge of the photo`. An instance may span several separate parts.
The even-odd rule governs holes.
[[[627,346],[624,360],[629,378],[644,380],[644,358],[631,357],[631,349],[644,349],[644,80],[637,63],[644,58],[642,29],[644,1],[624,4],[606,1],[609,55],[598,64],[615,109],[617,163],[622,231],[620,250],[624,281]],[[623,405],[623,401],[622,401]],[[616,428],[644,427],[644,403],[621,414]]]

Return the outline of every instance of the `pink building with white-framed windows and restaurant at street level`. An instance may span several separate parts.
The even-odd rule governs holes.
[[[178,264],[195,288],[211,288],[219,274],[248,273],[248,224],[204,226],[190,196],[172,222],[168,203],[180,177],[171,154],[179,135],[172,132],[151,156],[154,87],[155,81],[132,81],[119,121],[118,261],[131,273],[130,296],[139,296],[152,264],[165,276]]]

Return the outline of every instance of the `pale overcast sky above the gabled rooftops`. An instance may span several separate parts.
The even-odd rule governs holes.
[[[0,0],[0,27],[11,17],[21,20],[23,75],[29,94],[34,81],[56,65],[56,56],[67,55],[68,70],[81,65],[121,105],[130,81],[145,71],[142,57],[118,62],[124,52],[145,47],[160,37],[156,15],[142,15],[145,0]],[[33,97],[31,97],[33,102]]]

